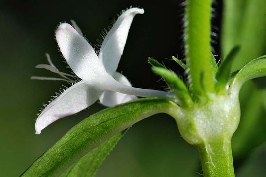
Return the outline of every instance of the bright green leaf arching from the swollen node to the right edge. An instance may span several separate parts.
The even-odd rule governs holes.
[[[239,91],[246,81],[263,76],[266,76],[266,55],[253,59],[240,69],[233,78],[232,88]]]

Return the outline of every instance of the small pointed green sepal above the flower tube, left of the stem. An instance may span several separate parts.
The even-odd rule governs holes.
[[[167,85],[174,91],[176,97],[180,100],[181,106],[188,107],[192,102],[189,91],[185,83],[172,71],[161,67],[152,67],[152,70],[162,76]]]

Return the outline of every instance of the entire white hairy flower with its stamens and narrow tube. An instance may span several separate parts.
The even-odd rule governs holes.
[[[143,13],[144,10],[139,8],[126,10],[107,33],[98,56],[78,28],[79,32],[67,23],[59,25],[55,34],[58,46],[81,81],[66,89],[41,112],[35,124],[36,134],[54,121],[89,107],[98,99],[105,106],[113,106],[136,96],[168,95],[163,91],[133,88],[125,76],[116,72],[132,20],[136,14]],[[49,69],[67,79],[68,76],[59,72],[49,58],[48,61],[50,65],[37,67]]]

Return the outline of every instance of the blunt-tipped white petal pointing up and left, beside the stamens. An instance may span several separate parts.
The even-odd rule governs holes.
[[[92,46],[71,25],[60,24],[55,35],[60,51],[78,77],[90,80],[95,71],[104,70]]]

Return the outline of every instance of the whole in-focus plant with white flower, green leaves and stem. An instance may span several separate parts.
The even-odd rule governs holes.
[[[225,49],[226,55],[218,65],[211,49],[211,11],[212,0],[186,1],[185,62],[173,59],[185,69],[187,82],[155,59],[148,59],[154,73],[171,89],[168,93],[133,88],[125,76],[116,73],[133,17],[143,13],[142,9],[131,8],[121,14],[98,55],[75,23],[75,29],[66,23],[59,25],[56,40],[78,81],[41,112],[36,133],[97,99],[107,106],[118,105],[74,126],[22,176],[93,176],[127,128],[151,115],[166,113],[176,120],[182,137],[199,150],[205,177],[234,177],[231,138],[240,121],[239,92],[246,81],[266,75],[266,56],[232,71],[234,60],[241,55],[239,41]],[[38,67],[73,81],[70,75],[58,71],[50,59],[48,62],[50,65]]]

